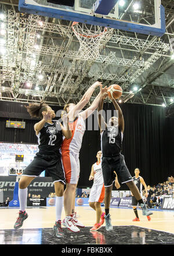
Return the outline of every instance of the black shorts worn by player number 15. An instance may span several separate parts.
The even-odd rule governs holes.
[[[115,180],[115,172],[118,176],[118,182],[126,183],[132,179],[131,174],[125,164],[124,155],[117,157],[103,157],[102,158],[102,172],[104,179],[104,187],[110,187]]]

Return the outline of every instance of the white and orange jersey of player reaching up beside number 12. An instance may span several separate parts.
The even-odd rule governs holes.
[[[73,151],[79,153],[82,146],[82,139],[85,133],[85,122],[81,115],[78,116],[74,122],[69,123],[70,129],[72,130],[72,137],[67,140],[64,138],[61,144],[61,150]]]

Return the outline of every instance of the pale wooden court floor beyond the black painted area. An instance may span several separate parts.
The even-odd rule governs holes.
[[[95,211],[90,207],[76,207],[79,221],[85,226],[93,226],[96,221]],[[104,208],[103,208],[104,211]],[[19,209],[0,209],[0,229],[13,229],[14,222],[18,216]],[[24,221],[23,229],[50,228],[55,223],[55,207],[27,208],[28,218]],[[135,218],[132,209],[110,208],[113,226],[139,226],[174,234],[174,211],[153,211],[151,221],[138,210],[140,222],[133,222]],[[64,209],[62,219],[64,218]],[[105,224],[104,224],[105,225]],[[103,226],[104,226],[103,225]]]

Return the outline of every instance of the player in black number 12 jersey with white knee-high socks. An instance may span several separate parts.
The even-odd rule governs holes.
[[[38,177],[41,172],[46,170],[53,179],[56,192],[56,223],[53,226],[53,230],[57,237],[63,237],[61,211],[63,208],[64,184],[66,182],[59,150],[63,136],[67,139],[72,136],[68,125],[68,117],[64,119],[66,124],[66,128],[64,128],[59,121],[52,120],[56,116],[55,111],[47,104],[29,104],[26,108],[30,116],[41,119],[34,125],[35,134],[38,137],[39,152],[24,170],[19,181],[20,211],[19,217],[14,224],[14,229],[19,229],[23,225],[23,221],[28,217],[26,212],[27,187],[35,177]]]

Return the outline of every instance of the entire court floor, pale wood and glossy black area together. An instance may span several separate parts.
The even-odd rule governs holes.
[[[75,210],[85,228],[79,233],[63,228],[65,239],[61,240],[52,230],[55,207],[27,208],[28,218],[18,230],[14,230],[13,225],[19,208],[0,209],[0,244],[174,244],[173,211],[153,211],[148,221],[138,210],[140,222],[132,222],[135,218],[132,209],[110,208],[113,231],[107,232],[104,224],[97,232],[90,232],[95,223],[95,211],[90,207]]]

